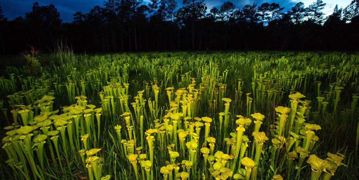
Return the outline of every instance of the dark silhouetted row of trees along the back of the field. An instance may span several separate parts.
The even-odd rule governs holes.
[[[326,3],[287,12],[276,3],[245,5],[227,1],[207,11],[203,0],[106,0],[104,7],[78,11],[63,23],[54,5],[33,4],[24,17],[7,20],[0,7],[2,54],[30,47],[44,53],[69,46],[75,52],[168,50],[343,50],[359,49],[359,0],[335,6],[324,18]]]

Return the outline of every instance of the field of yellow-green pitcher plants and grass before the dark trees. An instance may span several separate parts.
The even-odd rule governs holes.
[[[0,179],[359,177],[358,53],[15,59],[0,72]]]

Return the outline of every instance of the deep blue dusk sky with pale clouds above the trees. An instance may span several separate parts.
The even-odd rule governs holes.
[[[63,22],[73,21],[73,14],[76,11],[88,12],[93,6],[103,6],[103,0],[1,0],[0,6],[3,9],[5,17],[9,20],[13,20],[18,16],[25,16],[25,12],[30,12],[32,4],[37,1],[39,5],[53,4],[60,12],[60,18]],[[144,4],[147,4],[149,0],[144,0]],[[177,0],[178,6],[182,6],[183,0]],[[208,10],[212,7],[220,7],[225,1],[228,0],[204,0]],[[305,6],[312,4],[316,0],[230,0],[236,9],[241,9],[246,4],[256,3],[258,5],[268,3],[279,3],[281,7],[285,7],[284,12],[290,10],[296,3],[302,1]],[[339,7],[345,7],[350,4],[351,0],[323,0],[327,3],[323,10],[326,15],[330,15],[338,4]]]

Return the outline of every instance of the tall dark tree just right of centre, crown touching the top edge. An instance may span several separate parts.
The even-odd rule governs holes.
[[[207,6],[204,0],[183,0],[183,11],[188,12],[192,20],[192,50],[195,50],[195,21],[203,17]]]

